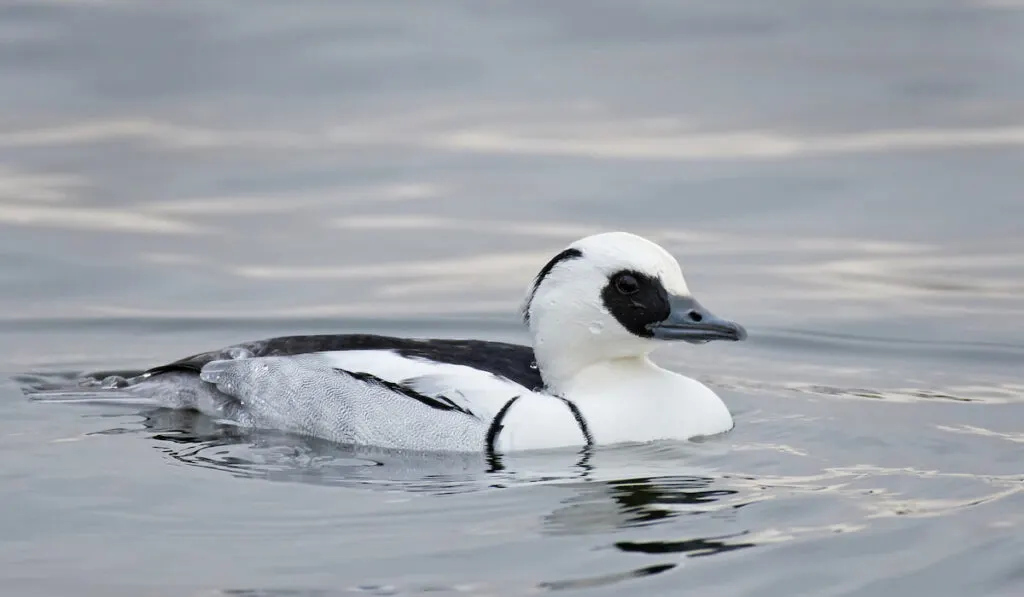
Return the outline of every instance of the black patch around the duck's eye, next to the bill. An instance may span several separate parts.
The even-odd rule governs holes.
[[[624,328],[641,338],[650,338],[648,326],[664,322],[672,312],[669,293],[662,281],[632,269],[610,275],[601,291],[601,300]]]

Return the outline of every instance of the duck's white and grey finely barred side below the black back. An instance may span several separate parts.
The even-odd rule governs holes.
[[[502,408],[532,393],[388,350],[213,360],[200,377],[238,400],[241,425],[403,450],[479,451]]]

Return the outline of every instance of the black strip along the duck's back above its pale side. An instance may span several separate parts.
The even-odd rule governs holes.
[[[186,356],[151,369],[147,373],[153,375],[171,371],[199,373],[208,363],[227,358],[382,350],[407,358],[463,365],[492,373],[530,389],[540,389],[544,386],[541,374],[535,365],[534,350],[528,346],[481,340],[398,338],[374,334],[283,336],[246,342]]]

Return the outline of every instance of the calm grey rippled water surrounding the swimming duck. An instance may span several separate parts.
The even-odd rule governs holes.
[[[1021,8],[0,3],[5,593],[1021,594]],[[525,341],[606,228],[750,331],[658,353],[732,433],[424,461],[11,379]]]

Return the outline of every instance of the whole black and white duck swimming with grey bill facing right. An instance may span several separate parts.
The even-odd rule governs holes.
[[[706,384],[656,365],[666,343],[742,341],[665,248],[624,231],[572,242],[529,281],[531,345],[376,334],[274,337],[35,399],[142,403],[344,444],[508,453],[690,440],[734,426]]]

